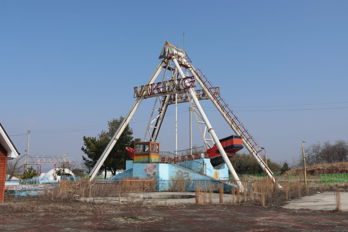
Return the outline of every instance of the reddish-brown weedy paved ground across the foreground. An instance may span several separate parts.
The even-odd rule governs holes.
[[[7,199],[0,231],[347,231],[348,212],[241,205],[153,206]]]

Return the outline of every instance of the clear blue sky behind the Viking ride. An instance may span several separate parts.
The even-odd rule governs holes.
[[[292,163],[303,140],[348,139],[347,10],[347,1],[1,1],[0,122],[21,154],[30,129],[30,154],[81,161],[82,137],[127,114],[165,41],[183,47],[185,33],[193,66],[267,157]],[[218,137],[233,134],[201,104]],[[134,115],[134,137],[152,106],[146,99]],[[189,146],[188,107],[178,105],[179,150]],[[160,142],[174,151],[168,111]]]

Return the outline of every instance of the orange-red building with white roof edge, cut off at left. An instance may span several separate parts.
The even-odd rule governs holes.
[[[0,123],[0,202],[5,195],[7,159],[17,158],[19,155],[15,145]]]

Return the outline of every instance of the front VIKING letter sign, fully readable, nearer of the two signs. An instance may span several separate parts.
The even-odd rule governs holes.
[[[175,90],[188,89],[196,87],[196,79],[194,76],[179,78],[176,80],[169,80],[157,82],[150,85],[142,85],[134,87],[134,97],[148,96],[153,94],[167,93]],[[140,90],[139,90],[140,88]],[[169,93],[168,93],[169,94]]]

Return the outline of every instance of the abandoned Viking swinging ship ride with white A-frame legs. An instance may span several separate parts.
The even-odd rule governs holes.
[[[140,87],[134,87],[134,97],[136,100],[124,118],[124,121],[122,121],[121,126],[114,134],[113,139],[111,139],[103,154],[98,159],[90,173],[89,179],[92,180],[96,176],[143,99],[155,97],[155,105],[151,113],[143,142],[135,143],[134,149],[127,147],[127,152],[129,157],[133,159],[134,165],[152,163],[154,164],[151,166],[153,169],[156,168],[155,164],[158,163],[157,166],[159,166],[161,163],[166,161],[165,157],[161,157],[159,143],[156,141],[161,124],[168,105],[187,102],[193,109],[200,133],[204,140],[206,151],[197,154],[192,154],[191,152],[190,154],[185,154],[185,157],[174,153],[174,155],[169,158],[171,159],[171,163],[180,163],[183,159],[196,160],[202,158],[204,160],[209,159],[208,161],[210,161],[212,166],[224,162],[226,163],[229,172],[232,174],[233,179],[239,181],[236,171],[232,167],[228,157],[234,156],[237,151],[243,148],[244,145],[259,163],[266,175],[272,179],[273,183],[281,187],[266,162],[264,162],[260,157],[259,153],[262,151],[261,147],[255,142],[254,138],[244,127],[243,123],[239,121],[235,113],[229,108],[228,104],[224,102],[220,95],[219,87],[214,87],[200,69],[195,69],[192,66],[191,60],[185,51],[166,41],[161,50],[159,59],[161,59],[161,61],[152,73],[148,82]],[[162,79],[161,81],[156,81],[161,71],[164,71]],[[197,84],[201,89],[195,89]],[[220,112],[236,135],[231,135],[220,140],[218,139],[214,128],[199,103],[199,101],[203,99],[210,99],[212,101],[216,109]],[[159,104],[160,107],[156,107],[157,104]],[[159,112],[156,117],[153,116],[155,111]],[[150,128],[152,128],[152,133],[150,132]],[[149,133],[150,136],[148,141],[145,140],[147,133]],[[145,171],[151,169],[151,167],[145,166]]]

